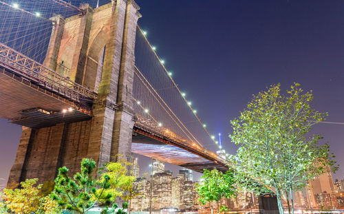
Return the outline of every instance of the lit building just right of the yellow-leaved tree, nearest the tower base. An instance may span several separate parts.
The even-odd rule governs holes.
[[[137,178],[133,182],[133,189],[136,190],[136,195],[131,199],[131,210],[147,211],[149,209],[151,182],[147,178]]]

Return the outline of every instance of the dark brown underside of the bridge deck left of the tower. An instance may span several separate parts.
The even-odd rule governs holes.
[[[0,117],[25,127],[47,127],[58,122],[86,120],[82,111],[63,109],[77,106],[58,94],[43,89],[21,76],[0,67]]]

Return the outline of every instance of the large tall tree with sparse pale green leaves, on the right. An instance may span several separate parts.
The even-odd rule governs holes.
[[[253,96],[247,109],[230,121],[230,138],[239,145],[230,158],[238,184],[275,193],[281,214],[283,194],[294,212],[292,191],[302,189],[335,163],[329,145],[319,144],[321,136],[309,136],[312,125],[327,115],[312,109],[312,100],[312,92],[303,93],[297,83],[287,95],[281,94],[279,85],[272,85],[267,92]],[[250,185],[252,181],[254,185]]]

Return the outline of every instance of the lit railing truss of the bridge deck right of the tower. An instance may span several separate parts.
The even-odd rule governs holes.
[[[213,158],[213,160],[216,160],[220,164],[223,164],[224,166],[228,164],[228,161],[220,156],[217,156],[217,154],[213,153],[212,151],[208,151],[208,149],[205,149],[204,147],[201,147],[200,145],[197,145],[195,142],[188,140],[186,138],[183,138],[182,136],[179,136],[178,134],[174,133],[173,131],[166,129],[164,127],[160,127],[157,122],[154,122],[152,120],[149,120],[147,118],[144,118],[143,116],[136,115],[136,127],[139,127],[145,131],[148,131],[149,133],[153,133],[155,136],[158,136],[162,139],[167,139],[172,142],[178,142],[180,145],[184,145],[185,147],[191,148],[197,153],[204,154],[205,156]]]

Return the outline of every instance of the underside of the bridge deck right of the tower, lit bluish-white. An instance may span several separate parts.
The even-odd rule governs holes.
[[[220,171],[228,170],[223,165],[203,158],[191,151],[176,147],[175,145],[166,144],[165,142],[155,140],[136,131],[133,133],[131,152],[163,162],[169,162],[200,173],[203,173],[203,169],[211,170],[216,168]]]

